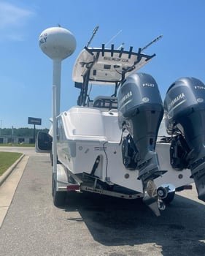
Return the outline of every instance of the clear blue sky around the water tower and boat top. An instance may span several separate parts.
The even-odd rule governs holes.
[[[120,31],[111,43],[137,50],[163,34],[144,50],[156,56],[140,70],[155,78],[162,99],[178,78],[205,83],[204,12],[204,0],[0,0],[1,128],[33,127],[28,116],[42,118],[36,128],[50,127],[53,63],[39,48],[43,30],[61,24],[77,40],[75,52],[62,62],[62,111],[76,105],[72,67],[96,26],[93,47]]]

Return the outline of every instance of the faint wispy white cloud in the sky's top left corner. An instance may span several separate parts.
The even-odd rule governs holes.
[[[34,12],[20,8],[14,4],[0,2],[0,31],[7,39],[22,41],[23,27]]]

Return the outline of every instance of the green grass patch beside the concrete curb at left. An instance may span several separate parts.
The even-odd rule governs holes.
[[[21,156],[21,153],[0,152],[0,176]]]

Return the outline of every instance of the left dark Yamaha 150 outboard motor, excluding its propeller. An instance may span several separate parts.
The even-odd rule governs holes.
[[[163,103],[158,85],[151,75],[135,73],[125,79],[117,94],[119,126],[127,135],[122,140],[123,164],[130,170],[139,170],[139,179],[147,181],[166,171],[160,170],[155,143]]]

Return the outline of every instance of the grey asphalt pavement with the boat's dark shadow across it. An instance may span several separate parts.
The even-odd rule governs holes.
[[[195,187],[177,192],[160,217],[141,200],[87,193],[70,193],[56,208],[50,157],[25,157],[0,228],[0,255],[204,255],[205,204]]]

